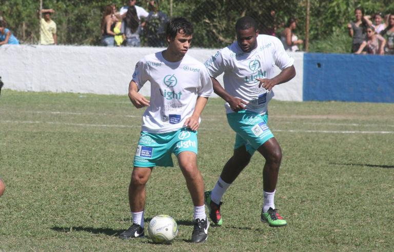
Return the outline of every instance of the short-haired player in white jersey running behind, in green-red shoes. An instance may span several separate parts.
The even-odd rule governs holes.
[[[227,120],[235,131],[233,156],[224,165],[212,191],[205,192],[205,204],[211,220],[222,225],[220,206],[223,194],[258,151],[265,158],[263,167],[264,205],[261,220],[270,226],[287,222],[274,205],[282,151],[267,126],[267,104],[272,88],[295,76],[294,60],[285,52],[281,41],[269,35],[259,35],[256,22],[245,16],[235,24],[237,41],[210,57],[205,66],[211,75],[213,90],[227,101]],[[282,71],[274,76],[274,66]],[[223,75],[224,88],[215,79]]]

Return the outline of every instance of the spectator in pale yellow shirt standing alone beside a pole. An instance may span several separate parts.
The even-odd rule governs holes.
[[[51,13],[55,13],[53,9],[42,9],[44,18],[41,18],[40,44],[41,45],[57,45],[56,23],[51,19]]]

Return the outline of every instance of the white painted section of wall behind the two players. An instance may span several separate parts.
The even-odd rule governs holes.
[[[0,76],[5,89],[126,95],[136,62],[163,48],[4,45],[0,47]],[[215,49],[190,49],[204,62]],[[279,100],[302,101],[303,53],[291,54],[297,77],[274,88]],[[279,72],[279,69],[278,69]],[[223,78],[218,80],[222,83]],[[150,85],[140,91],[149,96]]]

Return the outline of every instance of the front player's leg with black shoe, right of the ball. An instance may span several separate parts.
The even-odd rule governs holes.
[[[191,241],[204,242],[208,238],[209,221],[205,214],[204,180],[197,168],[197,155],[190,151],[181,152],[178,155],[178,162],[194,205],[194,228]]]

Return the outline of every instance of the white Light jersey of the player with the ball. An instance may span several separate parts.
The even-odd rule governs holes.
[[[149,54],[135,66],[133,80],[139,90],[150,81],[150,106],[145,110],[142,124],[142,131],[149,133],[183,128],[194,112],[197,97],[213,94],[207,69],[188,55],[181,61],[169,62],[162,52]]]

